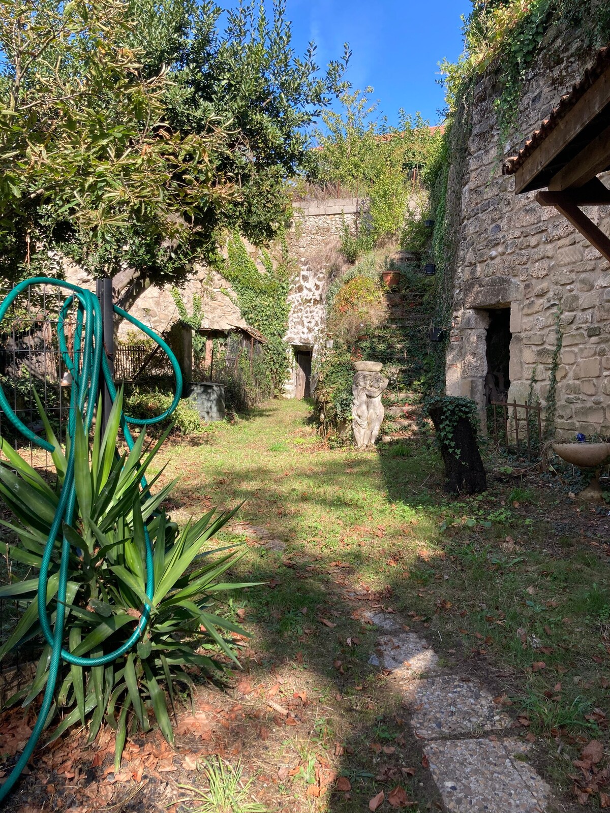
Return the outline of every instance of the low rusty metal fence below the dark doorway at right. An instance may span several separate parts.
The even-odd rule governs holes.
[[[491,436],[497,446],[503,446],[517,457],[529,461],[542,454],[542,407],[536,404],[491,401]],[[488,413],[488,432],[489,413]]]

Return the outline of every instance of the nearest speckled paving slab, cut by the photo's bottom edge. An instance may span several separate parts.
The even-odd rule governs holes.
[[[516,740],[436,740],[424,753],[452,813],[542,813],[551,803],[547,783],[513,759],[523,753]]]

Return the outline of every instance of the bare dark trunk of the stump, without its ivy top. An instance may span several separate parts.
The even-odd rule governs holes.
[[[442,462],[445,464],[445,491],[460,494],[478,494],[487,488],[483,461],[477,446],[477,438],[468,418],[458,418],[453,428],[450,448],[442,441],[442,406],[429,409],[429,416],[440,441]]]

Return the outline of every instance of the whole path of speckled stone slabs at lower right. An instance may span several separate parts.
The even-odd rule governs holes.
[[[413,741],[424,740],[447,811],[543,813],[554,806],[551,788],[527,762],[529,744],[508,732],[511,720],[485,685],[450,674],[399,615],[370,620],[380,635],[369,663],[390,672],[410,709]]]

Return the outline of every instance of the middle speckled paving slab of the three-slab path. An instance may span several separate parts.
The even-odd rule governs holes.
[[[446,675],[413,680],[403,687],[418,737],[436,739],[506,728],[511,719],[477,680]]]

